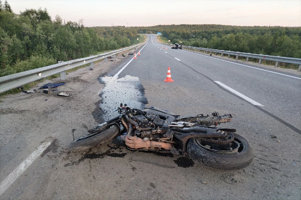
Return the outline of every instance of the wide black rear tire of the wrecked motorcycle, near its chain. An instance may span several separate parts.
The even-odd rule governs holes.
[[[240,143],[240,148],[236,154],[221,154],[206,150],[198,143],[197,138],[188,139],[186,143],[187,153],[193,161],[215,171],[236,171],[245,168],[254,158],[253,150],[245,138],[233,134],[235,141]]]

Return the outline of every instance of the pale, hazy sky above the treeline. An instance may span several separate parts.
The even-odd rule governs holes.
[[[2,0],[4,2],[4,0]],[[301,27],[301,0],[8,0],[13,12],[47,9],[84,26],[223,24]]]

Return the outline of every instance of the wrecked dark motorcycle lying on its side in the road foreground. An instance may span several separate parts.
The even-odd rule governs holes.
[[[85,150],[120,136],[129,149],[183,154],[218,171],[244,168],[254,158],[250,145],[235,129],[210,127],[230,122],[231,114],[182,117],[156,107],[125,106],[118,111],[119,116],[88,130],[70,147]]]

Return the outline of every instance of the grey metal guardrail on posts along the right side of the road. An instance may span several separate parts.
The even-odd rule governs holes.
[[[159,41],[158,41],[159,42]],[[167,46],[174,46],[173,44],[168,44],[168,43],[162,43]],[[271,60],[271,61],[276,61],[275,67],[278,67],[279,62],[281,63],[292,63],[292,64],[297,64],[298,66],[298,71],[301,71],[301,59],[300,58],[288,58],[288,57],[280,57],[280,56],[269,56],[269,55],[262,55],[262,54],[254,54],[254,53],[241,53],[241,52],[234,52],[234,51],[224,51],[224,50],[218,50],[218,49],[209,49],[209,48],[202,48],[202,47],[190,47],[190,46],[183,46],[182,48],[184,49],[189,49],[189,50],[197,50],[199,52],[203,51],[203,53],[206,51],[206,53],[210,52],[210,54],[215,53],[220,53],[221,56],[223,57],[224,54],[228,55],[228,58],[230,58],[230,55],[236,56],[236,60],[238,60],[238,57],[246,57],[246,62],[249,61],[249,58],[257,58],[259,59],[258,63],[261,64],[262,60]]]

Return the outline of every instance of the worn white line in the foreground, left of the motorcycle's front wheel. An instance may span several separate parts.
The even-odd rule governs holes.
[[[53,139],[46,140],[28,158],[26,158],[12,173],[8,175],[0,184],[1,194],[38,158],[45,149],[52,143]]]

